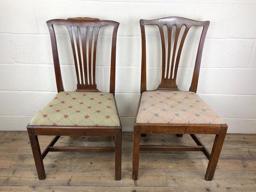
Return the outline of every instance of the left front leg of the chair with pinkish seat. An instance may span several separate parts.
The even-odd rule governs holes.
[[[133,180],[138,180],[140,156],[140,129],[134,126],[133,134]]]

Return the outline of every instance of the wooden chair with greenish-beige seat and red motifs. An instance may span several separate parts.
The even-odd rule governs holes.
[[[48,152],[115,152],[115,180],[121,179],[121,123],[115,101],[116,38],[119,23],[96,18],[53,19],[47,22],[58,94],[38,112],[27,126],[38,179],[46,178],[42,160]],[[63,89],[54,25],[69,32],[77,77],[77,90]],[[113,26],[110,93],[97,90],[95,82],[96,47],[102,26]],[[54,139],[40,152],[38,135]],[[112,136],[115,147],[58,147],[60,136]]]

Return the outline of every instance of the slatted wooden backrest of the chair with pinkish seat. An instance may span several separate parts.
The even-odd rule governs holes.
[[[141,29],[141,42],[142,42],[142,59],[141,59],[141,87],[140,92],[146,91],[146,36],[145,36],[145,25],[157,25],[160,37],[161,37],[161,45],[162,45],[162,77],[161,83],[159,84],[157,90],[178,90],[178,86],[176,84],[177,72],[179,67],[180,56],[182,52],[182,48],[184,45],[184,41],[186,39],[187,33],[192,26],[200,26],[203,27],[197,57],[195,62],[194,73],[191,81],[191,85],[189,91],[196,92],[198,85],[198,77],[201,65],[202,51],[205,41],[205,36],[208,30],[210,22],[198,22],[196,20],[191,20],[182,17],[166,17],[154,20],[145,20],[140,19],[140,29]],[[165,39],[164,35],[164,26],[167,28],[167,39]],[[184,27],[185,28],[184,28]],[[172,30],[173,27],[175,30],[174,42],[173,42],[173,54],[170,55],[171,45],[172,45]],[[184,28],[183,34],[181,34],[182,27]],[[177,47],[178,39],[181,37],[180,44]],[[166,63],[166,45],[167,41],[167,63]]]

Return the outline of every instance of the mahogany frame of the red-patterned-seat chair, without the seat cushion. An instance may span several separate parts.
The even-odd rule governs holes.
[[[47,25],[50,32],[53,62],[57,91],[64,91],[61,78],[60,63],[56,42],[56,34],[53,25],[64,25],[67,27],[74,56],[75,70],[77,76],[77,90],[88,92],[100,92],[95,83],[96,69],[96,46],[99,30],[102,26],[113,26],[112,49],[111,49],[111,72],[110,72],[110,93],[115,95],[115,68],[116,68],[116,38],[118,22],[112,20],[99,20],[97,18],[68,18],[48,20]],[[72,29],[73,28],[73,29]],[[80,30],[80,31],[79,31]],[[79,33],[80,32],[80,33]],[[95,32],[95,33],[94,33]],[[79,36],[80,35],[80,36]],[[85,37],[85,38],[84,38]],[[89,40],[87,39],[89,38]],[[75,40],[76,39],[76,40]],[[93,42],[94,39],[94,42]],[[76,44],[75,42],[76,41]],[[81,45],[79,43],[81,42]],[[87,44],[88,56],[87,56]],[[93,44],[93,46],[92,46]],[[80,50],[81,49],[81,50]],[[78,55],[78,58],[77,58]],[[82,59],[83,58],[83,62]],[[83,66],[82,66],[83,64]],[[88,72],[86,71],[88,70]],[[115,99],[115,97],[114,97]],[[115,100],[116,105],[116,100]],[[117,105],[116,105],[117,109]],[[118,114],[118,110],[117,110]],[[119,114],[118,114],[119,117]],[[120,121],[120,118],[119,118]],[[49,152],[115,152],[115,180],[121,180],[121,137],[122,127],[120,126],[27,126],[30,144],[34,156],[36,171],[39,180],[46,178],[43,159]],[[38,142],[38,135],[55,136],[53,140],[41,153]],[[112,136],[114,147],[58,147],[54,146],[60,136]]]

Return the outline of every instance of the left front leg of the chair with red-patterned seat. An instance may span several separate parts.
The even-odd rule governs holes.
[[[28,134],[29,134],[30,145],[32,148],[32,153],[34,156],[38,179],[44,180],[46,178],[46,172],[45,172],[44,163],[42,162],[42,155],[41,155],[41,150],[40,150],[37,135],[34,135],[33,130],[29,130],[29,129],[28,129]]]

